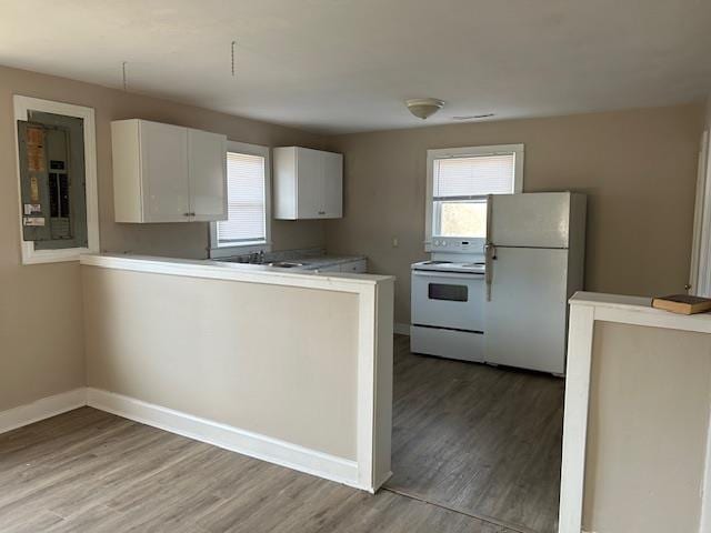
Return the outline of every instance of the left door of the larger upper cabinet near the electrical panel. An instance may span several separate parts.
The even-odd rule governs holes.
[[[144,222],[184,222],[190,213],[188,130],[140,121]]]

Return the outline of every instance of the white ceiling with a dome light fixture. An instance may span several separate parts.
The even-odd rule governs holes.
[[[709,0],[0,0],[0,64],[340,133],[711,92]],[[41,16],[38,16],[41,14]],[[237,41],[236,76],[231,42]]]

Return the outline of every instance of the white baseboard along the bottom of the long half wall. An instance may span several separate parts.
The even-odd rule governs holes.
[[[172,409],[100,389],[87,389],[88,405],[161,430],[207,442],[250,457],[279,464],[365,491],[358,481],[358,463],[286,441],[240,430]]]

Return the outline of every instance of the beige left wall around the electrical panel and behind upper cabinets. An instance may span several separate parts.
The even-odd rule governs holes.
[[[289,128],[0,67],[0,411],[84,384],[78,264],[20,265],[12,94],[96,109],[101,249],[112,252],[203,258],[208,225],[113,222],[111,120],[139,117],[259,144],[322,143]],[[272,240],[277,250],[323,245],[323,224],[274,221]]]

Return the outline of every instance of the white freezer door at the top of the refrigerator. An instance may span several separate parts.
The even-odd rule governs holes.
[[[492,194],[489,242],[495,247],[568,248],[570,192]]]

